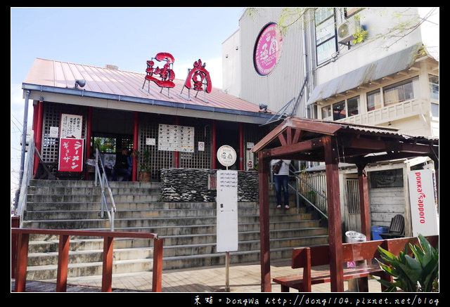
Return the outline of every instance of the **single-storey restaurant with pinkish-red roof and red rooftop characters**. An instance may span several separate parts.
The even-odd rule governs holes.
[[[147,169],[153,181],[161,169],[220,169],[221,145],[236,150],[233,167],[253,169],[248,147],[264,135],[259,125],[270,113],[215,88],[201,60],[193,61],[186,80],[174,79],[174,62],[158,53],[143,63],[143,72],[124,72],[36,59],[23,82],[25,103],[32,101],[34,109],[34,174],[43,164],[58,178],[89,178],[86,162],[97,145],[110,168],[123,148],[139,152],[132,181]],[[63,145],[78,146],[79,163],[65,157]]]

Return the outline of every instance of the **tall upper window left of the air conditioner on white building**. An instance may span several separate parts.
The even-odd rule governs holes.
[[[338,50],[336,44],[334,8],[316,9],[316,55],[317,64],[331,58]]]

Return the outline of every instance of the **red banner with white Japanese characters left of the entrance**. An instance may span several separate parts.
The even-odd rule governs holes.
[[[58,171],[83,171],[82,138],[60,138]]]

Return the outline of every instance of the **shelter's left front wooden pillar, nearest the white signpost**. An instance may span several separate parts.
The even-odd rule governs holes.
[[[269,237],[269,157],[258,152],[259,240],[261,249],[261,292],[271,292]]]

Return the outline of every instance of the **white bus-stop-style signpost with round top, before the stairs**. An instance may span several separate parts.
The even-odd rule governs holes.
[[[236,151],[229,145],[217,150],[217,159],[226,170],[217,171],[217,252],[226,252],[226,292],[229,287],[230,253],[238,250],[238,171],[228,166],[236,162]]]

